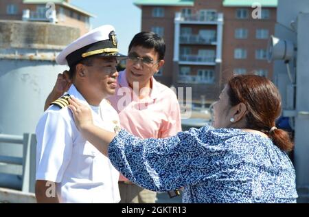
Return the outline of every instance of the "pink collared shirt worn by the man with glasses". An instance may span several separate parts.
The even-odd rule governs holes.
[[[148,98],[139,99],[129,87],[126,71],[120,71],[115,95],[108,100],[119,114],[120,125],[129,133],[146,138],[164,138],[181,131],[181,113],[176,94],[152,79]],[[126,181],[120,176],[119,181]]]

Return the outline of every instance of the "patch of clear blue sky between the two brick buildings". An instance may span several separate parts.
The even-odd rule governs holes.
[[[119,52],[127,54],[131,39],[141,32],[141,10],[133,5],[133,1],[71,0],[70,3],[96,16],[90,20],[93,28],[104,24],[113,25],[117,34]]]

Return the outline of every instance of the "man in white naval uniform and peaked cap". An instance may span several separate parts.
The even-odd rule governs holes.
[[[115,93],[117,59],[115,30],[104,25],[78,38],[56,58],[69,65],[73,80],[68,94],[49,106],[36,126],[36,199],[38,203],[118,203],[119,172],[82,135],[67,107],[75,97],[93,110],[93,122],[119,130],[119,117],[104,100]]]

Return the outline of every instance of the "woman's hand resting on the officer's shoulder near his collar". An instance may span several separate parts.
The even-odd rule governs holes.
[[[78,130],[83,131],[93,126],[92,113],[89,106],[82,104],[76,98],[69,99],[69,109],[71,109],[74,122]]]

